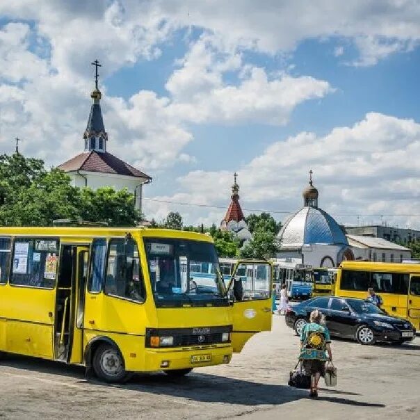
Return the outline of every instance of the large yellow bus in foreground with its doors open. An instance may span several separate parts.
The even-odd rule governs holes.
[[[205,234],[0,227],[0,353],[83,364],[107,382],[229,363],[271,329],[272,266],[236,269],[228,291]]]

